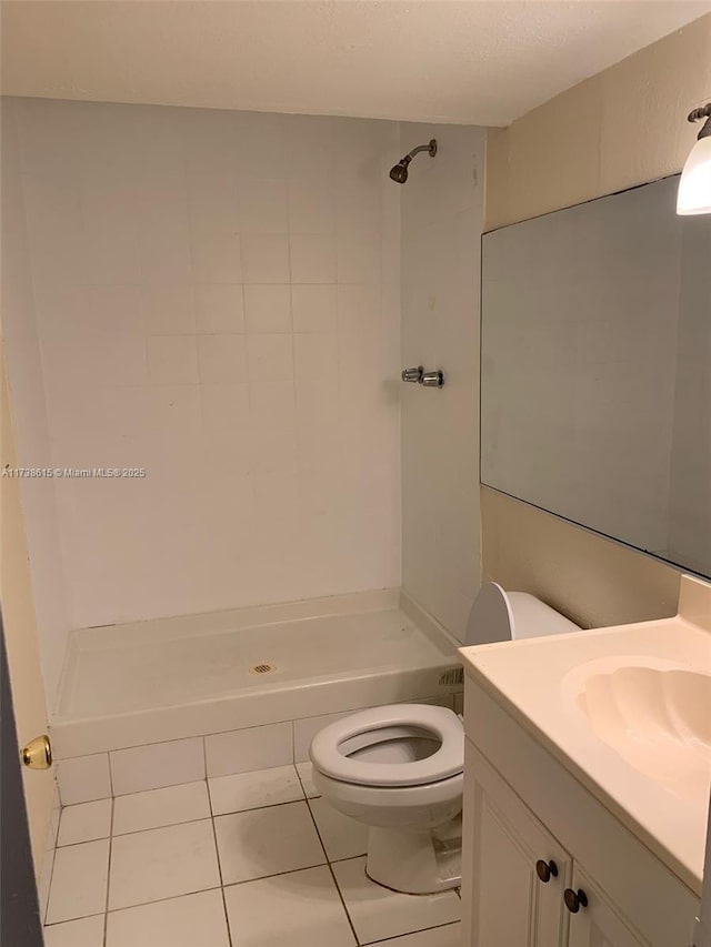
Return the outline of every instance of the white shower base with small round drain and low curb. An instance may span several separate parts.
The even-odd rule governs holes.
[[[67,652],[54,755],[402,701],[451,705],[458,644],[399,590],[84,628]]]

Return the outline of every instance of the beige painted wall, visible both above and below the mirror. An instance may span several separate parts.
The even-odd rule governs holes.
[[[711,14],[492,131],[484,229],[678,172],[709,98]],[[484,580],[587,626],[673,613],[677,570],[487,487],[481,514]]]

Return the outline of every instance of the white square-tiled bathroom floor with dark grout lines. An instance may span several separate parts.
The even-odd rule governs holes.
[[[454,891],[365,877],[310,764],[62,809],[46,947],[459,947]]]

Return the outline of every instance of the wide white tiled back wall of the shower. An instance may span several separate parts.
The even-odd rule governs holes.
[[[398,585],[398,124],[13,108],[70,625]]]

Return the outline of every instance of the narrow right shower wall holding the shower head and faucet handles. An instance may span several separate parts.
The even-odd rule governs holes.
[[[402,189],[402,363],[441,369],[445,384],[402,391],[402,585],[461,639],[480,576],[484,133],[418,124],[410,138],[437,138],[439,150]]]

